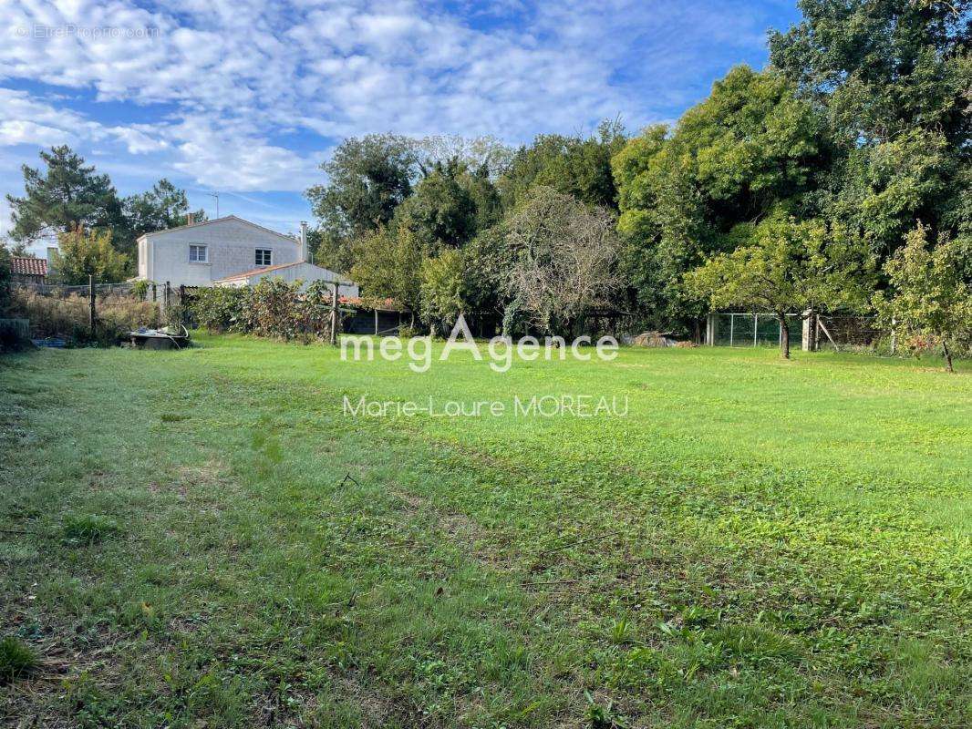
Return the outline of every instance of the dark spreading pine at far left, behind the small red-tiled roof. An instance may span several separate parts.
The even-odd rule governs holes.
[[[108,175],[70,147],[41,152],[43,167],[22,165],[24,195],[8,194],[14,224],[11,237],[29,242],[79,227],[114,229],[121,222],[121,201]]]

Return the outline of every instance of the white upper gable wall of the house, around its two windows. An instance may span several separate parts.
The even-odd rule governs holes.
[[[190,246],[206,246],[206,261],[190,260]],[[173,287],[209,286],[258,267],[257,249],[271,251],[271,265],[300,260],[300,243],[282,233],[234,218],[219,218],[149,233],[139,239],[138,277]]]

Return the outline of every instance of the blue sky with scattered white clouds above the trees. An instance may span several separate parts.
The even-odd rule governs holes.
[[[122,194],[167,177],[191,203],[281,231],[346,136],[637,130],[673,121],[795,0],[318,2],[0,0],[0,193],[66,143]],[[0,203],[0,232],[9,209]]]

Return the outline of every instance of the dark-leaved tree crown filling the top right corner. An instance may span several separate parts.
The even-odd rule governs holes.
[[[972,131],[969,0],[800,0],[803,20],[770,36],[771,61],[825,105],[846,138],[885,142]]]

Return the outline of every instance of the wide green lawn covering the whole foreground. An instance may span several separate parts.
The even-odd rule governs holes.
[[[199,339],[0,358],[0,721],[972,723],[967,363]],[[628,414],[342,415],[535,394]]]

